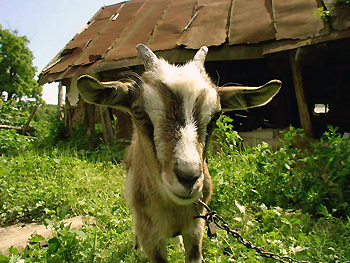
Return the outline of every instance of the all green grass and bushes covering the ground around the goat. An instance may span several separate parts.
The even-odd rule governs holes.
[[[349,260],[350,141],[330,127],[301,150],[293,147],[300,130],[290,128],[278,150],[266,144],[244,148],[229,121],[218,120],[209,151],[210,207],[268,251],[310,262]],[[50,127],[47,136],[61,129],[59,122]],[[81,140],[49,145],[42,138],[28,142],[26,151],[0,156],[0,224],[38,220],[55,229],[46,240],[33,235],[24,251],[9,248],[10,256],[0,255],[0,262],[146,262],[132,249],[120,162],[125,142],[83,149]],[[12,141],[13,149],[22,143]],[[60,221],[75,215],[92,216],[95,223],[77,230]],[[43,241],[47,246],[40,246]],[[171,242],[168,252],[170,262],[184,261]],[[203,253],[204,262],[273,262],[221,230],[205,239]]]

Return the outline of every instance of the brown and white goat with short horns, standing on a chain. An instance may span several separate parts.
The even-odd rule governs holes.
[[[168,262],[165,240],[177,235],[183,238],[186,263],[202,262],[204,220],[194,217],[203,208],[194,202],[211,196],[205,153],[216,120],[224,111],[265,105],[281,82],[216,87],[204,69],[207,47],[183,66],[158,58],[145,45],[136,48],[145,66],[140,85],[84,75],[77,87],[88,103],[123,109],[132,117],[125,198],[135,240],[150,262]]]

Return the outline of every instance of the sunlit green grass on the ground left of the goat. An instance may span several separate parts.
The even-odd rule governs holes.
[[[62,246],[54,253],[59,256],[57,262],[71,262],[72,257],[66,255],[71,252],[77,254],[73,256],[74,261],[86,262],[88,250],[92,248],[95,260],[123,258],[124,253],[131,250],[132,219],[124,202],[125,172],[121,164],[90,162],[70,151],[29,151],[20,156],[0,158],[2,225],[52,218],[57,223],[59,216],[90,215],[96,218],[96,225],[83,230],[84,238],[78,235],[60,237]],[[57,229],[62,232],[59,227]],[[75,239],[79,241],[77,244]],[[33,251],[39,253],[39,249],[33,248]],[[46,258],[47,253],[43,258],[42,253],[39,254],[40,257],[26,260],[50,260]],[[56,262],[55,257],[51,260]]]

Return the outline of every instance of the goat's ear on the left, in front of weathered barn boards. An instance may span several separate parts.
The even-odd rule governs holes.
[[[77,88],[86,102],[122,109],[128,109],[130,85],[119,81],[100,82],[88,75],[77,81]]]

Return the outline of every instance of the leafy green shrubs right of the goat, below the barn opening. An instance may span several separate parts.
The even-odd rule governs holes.
[[[227,121],[219,119],[219,131],[214,134],[235,137]],[[277,150],[266,143],[233,149],[235,139],[218,136],[216,143],[223,149],[219,158],[224,161],[213,158],[214,165],[209,167],[212,177],[219,177],[219,183],[236,189],[235,197],[225,198],[240,197],[245,202],[303,209],[318,216],[324,215],[324,208],[339,217],[350,215],[350,140],[329,127],[309,148],[298,149],[294,142],[301,134],[301,129],[290,127],[283,132],[283,146]],[[233,150],[228,155],[229,149]],[[231,175],[223,180],[224,174]]]

